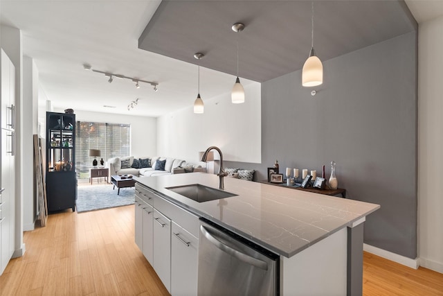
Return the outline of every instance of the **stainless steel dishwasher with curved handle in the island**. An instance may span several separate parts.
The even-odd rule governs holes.
[[[279,256],[200,218],[199,296],[279,295]]]

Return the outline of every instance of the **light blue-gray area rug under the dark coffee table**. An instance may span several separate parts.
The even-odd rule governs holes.
[[[134,187],[112,189],[114,185],[84,185],[77,187],[77,211],[94,211],[134,204]]]

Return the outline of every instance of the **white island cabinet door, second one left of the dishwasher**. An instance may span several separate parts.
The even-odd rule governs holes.
[[[171,220],[154,209],[154,258],[155,272],[171,293]]]

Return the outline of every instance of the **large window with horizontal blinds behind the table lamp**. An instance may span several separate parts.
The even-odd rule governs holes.
[[[106,162],[110,157],[131,155],[130,124],[77,121],[75,132],[75,167],[79,178],[89,177],[94,159],[89,156],[89,149],[100,150],[98,166],[100,159]]]

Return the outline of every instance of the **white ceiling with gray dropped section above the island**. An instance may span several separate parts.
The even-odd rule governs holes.
[[[332,3],[343,10],[332,10]],[[436,16],[443,15],[440,1],[407,3],[421,19],[432,18],[435,10]],[[357,13],[358,6],[365,11]],[[314,47],[322,60],[410,31],[408,14],[397,1],[315,1],[314,9]],[[192,56],[197,51],[206,53],[200,60],[205,100],[230,93],[237,41],[243,85],[301,69],[310,46],[310,5],[304,1],[0,0],[0,21],[21,29],[24,55],[33,58],[39,71],[40,100],[44,93],[60,109],[116,114],[161,116],[192,106],[197,95],[197,60]],[[165,21],[166,32],[159,27]],[[230,31],[235,21],[246,24],[237,35]],[[358,35],[347,36],[352,32]],[[138,49],[140,37],[142,47],[157,48]],[[159,92],[146,84],[136,89],[130,80],[108,83],[105,75],[84,71],[83,64],[158,82]],[[138,105],[128,111],[136,98]]]

